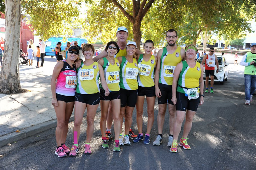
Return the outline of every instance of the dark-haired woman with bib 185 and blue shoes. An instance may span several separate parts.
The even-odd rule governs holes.
[[[150,132],[154,124],[154,106],[156,100],[155,94],[155,82],[154,82],[154,71],[157,64],[157,57],[151,55],[152,50],[154,49],[154,42],[152,40],[146,40],[143,46],[145,54],[140,54],[137,56],[138,60],[138,98],[136,103],[137,111],[137,125],[139,135],[133,140],[133,142],[140,142],[143,140],[142,133],[142,124],[143,124],[143,104],[146,95],[147,100],[147,131],[145,134],[144,144],[150,143]]]

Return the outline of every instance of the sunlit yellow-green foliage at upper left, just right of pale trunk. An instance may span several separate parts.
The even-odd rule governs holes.
[[[42,39],[52,36],[70,37],[79,26],[81,2],[69,0],[22,0],[22,10],[29,15],[31,30]]]

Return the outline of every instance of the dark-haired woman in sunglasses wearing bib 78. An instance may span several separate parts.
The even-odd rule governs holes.
[[[120,134],[120,77],[119,67],[120,64],[114,56],[119,52],[119,47],[115,41],[110,41],[105,48],[108,53],[107,57],[101,58],[98,62],[103,67],[104,76],[109,87],[110,94],[105,96],[105,90],[100,85],[100,108],[101,108],[101,119],[100,119],[100,130],[102,134],[102,148],[109,148],[108,140],[105,135],[106,131],[106,119],[108,116],[108,109],[110,101],[112,103],[113,118],[114,118],[114,131],[115,131],[115,152],[120,152],[119,147],[119,134]]]

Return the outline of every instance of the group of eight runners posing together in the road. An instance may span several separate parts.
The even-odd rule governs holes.
[[[82,48],[84,61],[79,59],[79,49],[71,46],[68,58],[59,61],[51,80],[52,104],[56,111],[57,148],[55,154],[64,157],[79,153],[78,139],[83,114],[87,108],[87,129],[84,153],[91,154],[90,140],[94,132],[94,118],[97,107],[101,107],[100,129],[102,148],[109,148],[112,138],[111,126],[114,120],[115,146],[133,142],[150,143],[150,133],[154,123],[155,98],[158,98],[157,116],[158,135],[153,145],[162,143],[162,130],[165,113],[168,109],[170,152],[177,152],[177,143],[184,149],[190,149],[187,136],[198,105],[203,104],[203,66],[194,61],[197,48],[188,45],[185,50],[176,46],[177,32],[170,29],[166,33],[167,47],[160,49],[157,56],[151,54],[154,49],[152,40],[146,40],[143,54],[135,42],[127,42],[128,30],[119,27],[117,42],[110,41],[105,51],[93,58],[94,46],[85,44]],[[97,62],[96,62],[97,61]],[[76,66],[75,66],[75,65]],[[56,82],[57,79],[57,83]],[[100,85],[99,85],[100,79]],[[147,101],[147,130],[143,135],[143,103]],[[138,135],[131,130],[132,113],[137,110]],[[74,143],[71,150],[65,145],[69,118],[74,109]],[[178,141],[182,122],[186,113],[184,132]],[[125,119],[124,134],[122,134]]]

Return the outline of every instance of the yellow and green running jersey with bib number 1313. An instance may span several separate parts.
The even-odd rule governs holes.
[[[99,63],[86,66],[81,63],[81,66],[77,69],[77,85],[76,92],[80,94],[95,94],[100,91],[99,88]]]

